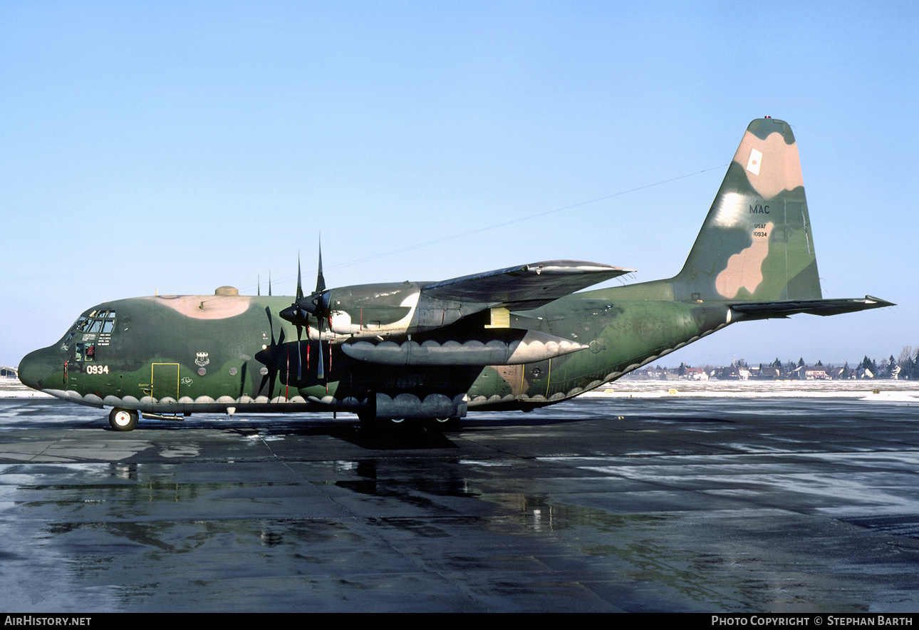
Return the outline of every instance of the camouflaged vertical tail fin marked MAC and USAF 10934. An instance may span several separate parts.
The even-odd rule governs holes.
[[[798,145],[783,120],[750,123],[683,269],[677,300],[821,298]]]

